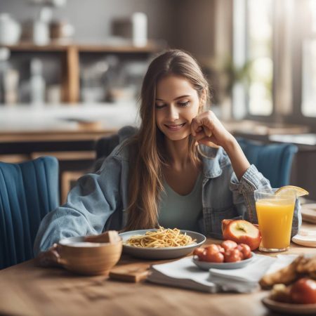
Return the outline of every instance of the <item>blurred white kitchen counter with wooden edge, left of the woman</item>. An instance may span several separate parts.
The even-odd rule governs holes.
[[[34,137],[42,133],[105,133],[137,124],[133,103],[0,106],[0,142],[23,138],[25,133]]]

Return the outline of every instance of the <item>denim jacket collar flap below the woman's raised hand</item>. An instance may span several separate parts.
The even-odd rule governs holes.
[[[207,157],[209,157],[202,157],[204,177],[217,178],[222,174],[222,169],[225,166],[230,165],[228,154],[226,154],[222,147],[215,148],[203,146],[202,150]]]

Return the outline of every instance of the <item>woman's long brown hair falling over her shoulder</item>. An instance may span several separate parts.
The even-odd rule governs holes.
[[[140,94],[140,129],[129,142],[129,217],[125,230],[154,228],[158,225],[159,195],[164,189],[162,166],[168,161],[164,152],[164,134],[156,125],[156,87],[160,79],[171,74],[190,81],[200,100],[209,96],[209,84],[190,54],[173,49],[150,63]],[[196,164],[197,151],[191,136],[189,153],[190,159]]]

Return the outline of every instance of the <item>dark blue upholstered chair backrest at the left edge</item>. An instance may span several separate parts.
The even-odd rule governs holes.
[[[58,204],[55,157],[0,162],[0,269],[33,258],[39,223]]]

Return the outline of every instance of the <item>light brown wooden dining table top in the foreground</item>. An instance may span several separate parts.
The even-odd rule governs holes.
[[[315,228],[306,223],[302,226],[307,231]],[[208,244],[213,242],[220,241],[207,239]],[[315,253],[315,248],[292,243],[282,254]],[[145,268],[159,262],[122,255],[117,266]],[[209,294],[150,282],[122,282],[106,275],[76,275],[63,268],[41,268],[34,259],[0,270],[0,287],[0,315],[275,315],[261,303],[268,291]]]

